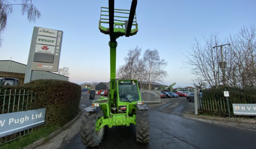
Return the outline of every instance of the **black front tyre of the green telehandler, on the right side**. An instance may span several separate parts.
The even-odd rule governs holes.
[[[140,143],[149,142],[149,111],[136,110],[136,141]]]

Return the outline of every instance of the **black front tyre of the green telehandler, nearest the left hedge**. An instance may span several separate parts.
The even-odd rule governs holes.
[[[82,125],[80,127],[81,141],[87,146],[98,146],[103,139],[105,126],[99,131],[95,131],[95,125],[98,118],[104,117],[102,110],[99,112],[86,112],[82,120]]]

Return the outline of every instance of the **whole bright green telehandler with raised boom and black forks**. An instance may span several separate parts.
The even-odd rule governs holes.
[[[108,8],[101,7],[99,30],[110,35],[110,91],[108,98],[101,97],[86,109],[81,125],[81,141],[88,146],[97,146],[103,138],[106,126],[130,126],[132,123],[136,125],[137,142],[148,143],[149,107],[141,100],[138,81],[115,80],[116,39],[138,32],[135,13],[137,0],[132,0],[130,10],[115,9],[114,0],[108,2]],[[129,16],[119,16],[120,14]],[[125,18],[128,20],[122,20]],[[109,27],[104,27],[104,24]],[[90,96],[94,99],[95,92]]]

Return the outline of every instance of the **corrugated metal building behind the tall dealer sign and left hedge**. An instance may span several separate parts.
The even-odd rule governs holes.
[[[11,60],[0,60],[0,77],[17,78],[20,83],[24,83],[25,70],[27,65]],[[69,77],[55,74],[48,71],[33,70],[32,80],[38,79],[56,79],[68,81]]]

